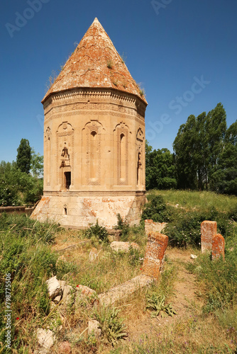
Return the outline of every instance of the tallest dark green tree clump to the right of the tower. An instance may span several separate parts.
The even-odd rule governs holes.
[[[207,114],[204,112],[197,118],[189,116],[173,143],[179,188],[207,190],[211,185],[214,187],[225,137],[226,111],[221,103]]]

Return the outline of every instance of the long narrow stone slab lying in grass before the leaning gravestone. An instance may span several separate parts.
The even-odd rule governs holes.
[[[134,292],[146,287],[154,282],[153,278],[146,275],[138,275],[136,278],[123,282],[123,284],[116,287],[111,287],[107,292],[98,295],[99,304],[107,306],[114,304],[114,302],[126,299],[126,297],[133,295]]]

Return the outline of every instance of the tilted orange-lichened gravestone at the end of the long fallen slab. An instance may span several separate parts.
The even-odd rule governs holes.
[[[158,279],[162,263],[165,258],[165,250],[168,244],[168,236],[158,232],[148,234],[148,243],[145,249],[142,273],[148,277]]]

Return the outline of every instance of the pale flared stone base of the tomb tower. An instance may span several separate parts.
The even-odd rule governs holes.
[[[98,222],[112,229],[118,222],[117,215],[131,225],[140,222],[141,207],[145,204],[145,191],[130,195],[76,196],[76,193],[44,195],[31,218],[40,222],[58,222],[62,226],[84,228]],[[78,193],[77,193],[78,194]],[[96,194],[96,193],[94,193]]]

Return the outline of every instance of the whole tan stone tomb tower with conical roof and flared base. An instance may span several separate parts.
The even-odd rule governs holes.
[[[32,218],[111,229],[145,203],[145,96],[97,18],[43,98],[44,193]]]

